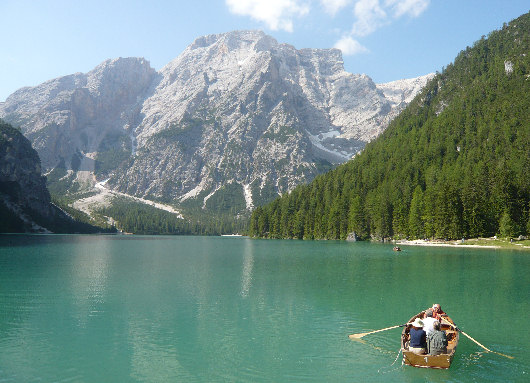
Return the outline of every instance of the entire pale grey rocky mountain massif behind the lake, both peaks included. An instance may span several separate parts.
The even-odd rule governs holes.
[[[0,117],[70,192],[108,179],[136,197],[244,210],[350,159],[431,77],[376,85],[339,50],[237,31],[198,38],[159,72],[119,58],[20,89]]]

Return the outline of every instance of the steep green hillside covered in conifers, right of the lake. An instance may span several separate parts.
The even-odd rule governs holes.
[[[257,208],[268,238],[530,234],[530,14],[468,47],[355,159]]]

